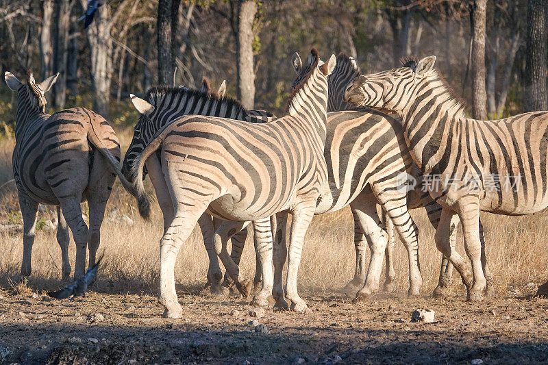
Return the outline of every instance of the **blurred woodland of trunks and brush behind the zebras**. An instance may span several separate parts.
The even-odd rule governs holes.
[[[0,0],[0,64],[20,79],[60,73],[49,112],[84,106],[136,121],[129,93],[227,79],[247,108],[282,114],[290,55],[317,47],[370,73],[406,55],[436,64],[476,118],[547,110],[548,0],[109,0],[84,29],[86,0]],[[174,78],[175,68],[177,72]],[[0,83],[0,123],[15,93]]]

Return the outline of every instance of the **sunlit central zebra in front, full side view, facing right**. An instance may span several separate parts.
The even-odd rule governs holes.
[[[160,177],[164,193],[171,197],[175,212],[160,242],[160,302],[169,317],[181,315],[173,266],[181,244],[203,212],[227,221],[216,231],[215,250],[240,290],[238,266],[226,254],[227,240],[253,221],[256,231],[276,212],[292,214],[285,299],[291,309],[306,310],[297,292],[297,271],[306,229],[316,201],[325,194],[327,168],[323,158],[327,113],[327,75],[336,58],[319,66],[316,49],[308,56],[310,68],[303,82],[288,99],[286,116],[269,123],[247,123],[234,119],[184,116],[160,129],[134,162],[134,188],[139,211],[147,216],[149,200],[142,186],[142,167],[152,153],[160,153]],[[212,99],[207,108],[231,107]],[[145,105],[146,106],[146,105]],[[153,123],[150,105],[136,127]],[[149,170],[149,174],[152,175]],[[158,194],[158,188],[155,186]],[[232,221],[232,222],[229,222]],[[259,225],[260,223],[260,225]],[[264,231],[268,236],[269,229]],[[256,297],[272,292],[272,246],[265,240],[258,247],[262,263],[262,289]],[[271,242],[271,241],[270,241]],[[240,290],[241,291],[241,290]]]

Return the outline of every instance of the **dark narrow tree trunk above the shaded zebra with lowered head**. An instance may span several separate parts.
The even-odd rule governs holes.
[[[173,82],[173,58],[171,55],[171,0],[158,1],[158,83],[171,85]]]

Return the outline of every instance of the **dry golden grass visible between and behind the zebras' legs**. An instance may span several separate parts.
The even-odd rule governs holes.
[[[132,136],[131,129],[116,131],[123,150]],[[0,186],[12,179],[11,153],[13,140],[0,141]],[[151,186],[147,188],[151,191]],[[0,188],[0,223],[17,221],[18,210],[14,184]],[[87,207],[84,204],[84,211]],[[113,210],[127,214],[134,220],[128,225],[119,220],[109,220]],[[53,218],[53,208],[40,212],[38,218]],[[125,193],[117,181],[107,205],[105,222],[101,229],[101,247],[104,264],[96,290],[110,293],[151,292],[158,288],[159,250],[158,242],[162,232],[159,208],[153,209],[150,222],[138,217],[134,201]],[[434,246],[434,230],[427,223],[423,210],[412,212],[420,231],[420,260],[424,278],[423,293],[429,294],[437,283],[440,253]],[[545,212],[531,216],[510,217],[482,214],[486,230],[487,257],[497,291],[504,294],[512,287],[529,283],[542,284],[548,279],[548,217]],[[21,222],[18,222],[21,223]],[[459,235],[458,250],[462,248],[462,234]],[[324,216],[316,216],[306,238],[306,244],[299,272],[299,287],[306,294],[311,292],[332,292],[346,284],[353,275],[352,219],[349,210]],[[4,290],[35,291],[56,288],[60,285],[60,249],[55,232],[38,230],[34,244],[32,277],[27,283],[18,281],[23,252],[21,231],[0,232],[0,288]],[[71,245],[71,265],[74,264],[75,248]],[[397,243],[397,286],[401,293],[408,287],[408,263],[403,245]],[[242,272],[253,275],[254,264],[251,238],[242,258]],[[175,275],[183,288],[197,288],[206,281],[207,255],[199,231],[190,236],[177,259]],[[454,277],[455,281],[460,281]],[[454,286],[454,292],[464,293],[462,285]]]

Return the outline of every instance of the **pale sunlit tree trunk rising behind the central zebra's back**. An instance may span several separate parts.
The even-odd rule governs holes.
[[[236,58],[238,99],[247,109],[255,104],[255,70],[253,69],[253,22],[257,12],[255,1],[238,1],[238,36]]]

